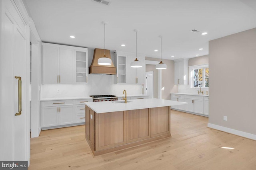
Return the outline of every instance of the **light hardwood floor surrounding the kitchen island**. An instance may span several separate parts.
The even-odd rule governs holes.
[[[207,117],[172,110],[172,137],[96,157],[86,143],[84,125],[42,131],[31,139],[28,169],[256,169],[256,141],[207,128],[207,123]]]

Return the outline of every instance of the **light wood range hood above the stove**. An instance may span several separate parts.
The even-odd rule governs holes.
[[[111,59],[110,50],[105,50],[106,57]],[[109,66],[98,64],[98,59],[104,56],[104,49],[94,49],[92,64],[89,67],[89,74],[116,74],[116,67],[113,62]]]

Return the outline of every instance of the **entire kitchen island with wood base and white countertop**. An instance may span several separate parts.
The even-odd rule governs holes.
[[[161,99],[86,103],[86,141],[94,156],[170,137],[170,107]]]

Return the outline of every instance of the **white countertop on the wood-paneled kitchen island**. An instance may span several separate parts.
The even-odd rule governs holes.
[[[113,103],[113,102],[88,102],[85,105],[90,107],[96,113],[107,113],[114,111],[146,109],[154,107],[176,106],[188,104],[186,102],[176,102],[163,99],[138,99],[127,100],[128,103]]]

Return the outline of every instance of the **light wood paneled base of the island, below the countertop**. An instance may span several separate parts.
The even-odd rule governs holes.
[[[108,113],[86,106],[85,137],[94,156],[171,137],[170,106]]]

